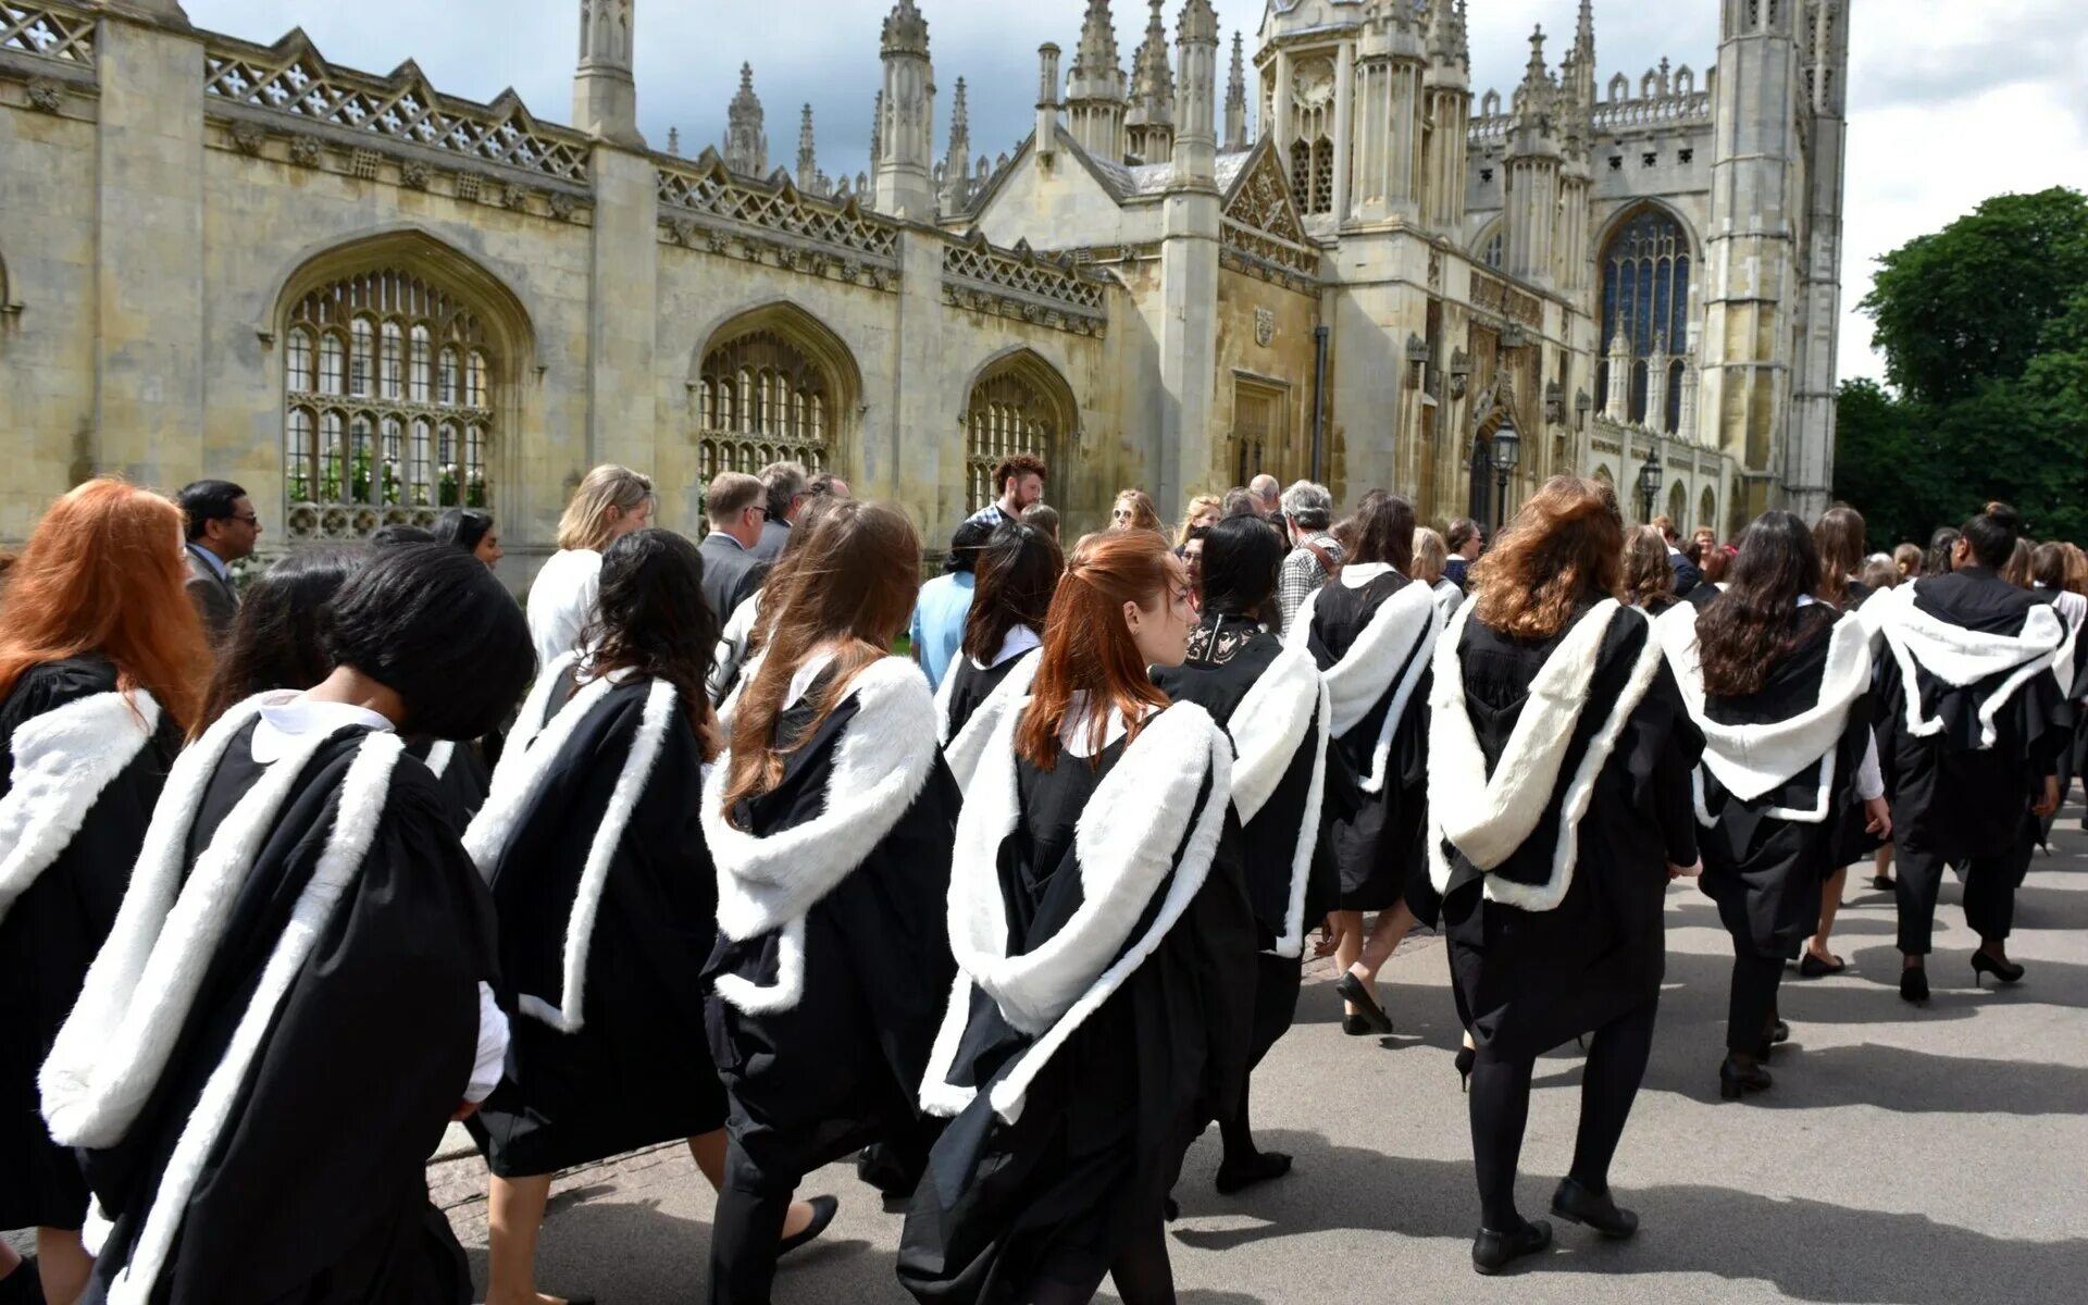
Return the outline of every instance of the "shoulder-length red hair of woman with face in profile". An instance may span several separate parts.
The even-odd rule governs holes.
[[[1040,770],[1059,764],[1059,731],[1075,693],[1088,697],[1092,764],[1100,764],[1111,708],[1123,714],[1125,735],[1138,737],[1146,706],[1163,708],[1167,695],[1146,674],[1123,603],[1150,608],[1155,597],[1167,601],[1169,585],[1184,583],[1182,560],[1159,535],[1109,530],[1079,541],[1044,622],[1029,710],[1015,731],[1017,756]]]

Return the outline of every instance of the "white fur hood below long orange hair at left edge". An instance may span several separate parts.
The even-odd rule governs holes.
[[[144,754],[159,720],[159,702],[134,689],[75,697],[15,729],[15,770],[0,798],[0,921],[71,846],[102,789]]]

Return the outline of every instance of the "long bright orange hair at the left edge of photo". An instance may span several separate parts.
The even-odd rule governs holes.
[[[100,654],[123,693],[144,689],[186,733],[200,722],[211,651],[188,601],[182,509],[121,480],[50,505],[0,603],[0,699],[31,666]]]

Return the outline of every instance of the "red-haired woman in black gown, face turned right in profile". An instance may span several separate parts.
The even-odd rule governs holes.
[[[963,971],[921,1088],[952,1121],[900,1240],[919,1301],[1077,1305],[1105,1276],[1173,1301],[1167,1190],[1232,1115],[1255,1017],[1232,745],[1146,677],[1194,620],[1157,532],[1082,541],[965,796]]]

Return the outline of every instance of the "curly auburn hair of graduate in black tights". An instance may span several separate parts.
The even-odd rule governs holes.
[[[1553,476],[1472,566],[1472,616],[1514,639],[1549,639],[1589,599],[1616,595],[1622,551],[1616,491]]]

